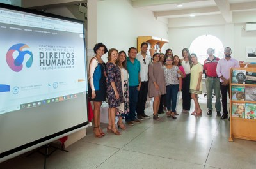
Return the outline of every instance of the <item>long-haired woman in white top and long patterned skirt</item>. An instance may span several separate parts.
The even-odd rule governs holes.
[[[129,84],[128,84],[128,71],[126,68],[127,56],[124,50],[118,53],[116,60],[116,65],[121,70],[121,80],[122,80],[122,89],[124,94],[124,102],[120,104],[119,107],[116,107],[116,115],[118,116],[117,126],[121,129],[126,129],[126,126],[123,123],[123,118],[126,114],[129,114]]]

